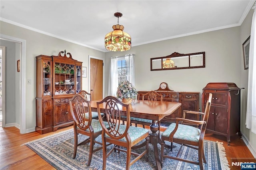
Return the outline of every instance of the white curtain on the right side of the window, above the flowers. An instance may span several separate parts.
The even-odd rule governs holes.
[[[135,86],[135,62],[134,62],[134,54],[130,54],[125,56],[126,64],[127,64],[127,79],[130,83]]]

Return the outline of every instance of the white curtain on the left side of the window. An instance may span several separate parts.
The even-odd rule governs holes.
[[[108,96],[116,96],[118,88],[117,58],[111,58],[109,68]]]

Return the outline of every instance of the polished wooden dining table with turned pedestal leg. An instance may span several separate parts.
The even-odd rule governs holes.
[[[97,112],[97,102],[101,100],[91,101],[91,108],[93,112]],[[158,154],[158,121],[160,121],[165,116],[172,114],[178,108],[180,108],[181,103],[178,102],[161,102],[161,101],[148,101],[148,100],[134,100],[130,104],[130,116],[136,118],[145,118],[152,120],[150,125],[150,143],[153,144],[154,156],[156,159],[156,168],[161,170],[161,164]],[[100,104],[100,112],[104,113],[105,104]],[[120,112],[126,111],[122,110],[122,107],[119,108]],[[125,115],[124,115],[125,116]]]

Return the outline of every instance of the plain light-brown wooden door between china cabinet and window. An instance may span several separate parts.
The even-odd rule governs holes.
[[[103,99],[103,60],[90,58],[90,93],[92,100]]]

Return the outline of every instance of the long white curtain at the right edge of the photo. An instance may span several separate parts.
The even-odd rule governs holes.
[[[247,93],[247,109],[246,109],[246,128],[252,130],[256,134],[256,5],[252,8],[254,13],[252,16],[252,28],[250,35],[249,49],[249,65],[248,65],[248,93]]]

